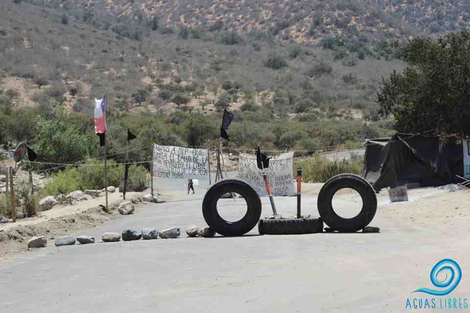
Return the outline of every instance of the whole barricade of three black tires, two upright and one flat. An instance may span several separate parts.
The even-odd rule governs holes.
[[[332,206],[334,194],[343,188],[351,188],[362,199],[361,211],[352,218],[336,214]],[[224,220],[217,211],[217,201],[227,193],[239,194],[245,199],[247,212],[239,221]],[[300,200],[299,200],[300,201]],[[300,204],[298,204],[300,205]],[[215,183],[208,190],[202,203],[206,223],[223,236],[241,236],[258,224],[260,234],[307,234],[323,232],[323,223],[339,232],[355,232],[371,223],[377,210],[377,198],[369,182],[354,174],[340,174],[329,179],[318,194],[318,213],[320,218],[262,219],[261,201],[256,191],[246,182],[226,179]],[[300,215],[300,214],[299,214]]]

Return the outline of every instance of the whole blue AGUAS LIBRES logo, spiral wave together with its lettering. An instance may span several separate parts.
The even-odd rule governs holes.
[[[462,269],[457,262],[444,259],[431,269],[431,283],[435,289],[421,287],[412,293],[425,293],[422,297],[407,298],[405,309],[462,310],[469,308],[468,298],[447,296],[462,280]],[[428,296],[430,295],[430,296]]]

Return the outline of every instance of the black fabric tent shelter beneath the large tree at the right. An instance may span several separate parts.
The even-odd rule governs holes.
[[[460,182],[463,175],[462,145],[443,145],[439,137],[395,134],[391,138],[366,139],[362,177],[376,191],[402,184],[420,187]]]

